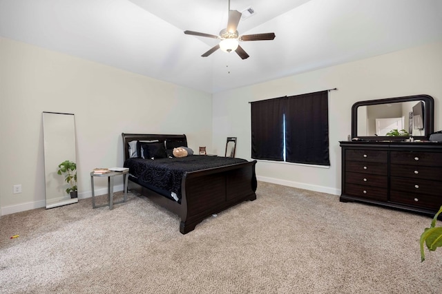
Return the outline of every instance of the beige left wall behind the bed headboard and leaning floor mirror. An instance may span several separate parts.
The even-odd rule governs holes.
[[[210,151],[211,109],[211,94],[0,38],[1,214],[44,207],[41,112],[75,114],[84,198],[93,168],[122,166],[122,132],[186,134]]]

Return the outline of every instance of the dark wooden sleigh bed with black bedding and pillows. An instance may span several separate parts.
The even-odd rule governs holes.
[[[122,138],[128,189],[176,213],[182,234],[214,213],[256,200],[256,160],[200,155],[174,158],[174,147],[187,147],[184,134],[123,133]]]

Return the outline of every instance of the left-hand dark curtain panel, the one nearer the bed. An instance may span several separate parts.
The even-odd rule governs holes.
[[[284,97],[251,103],[251,158],[282,161]]]

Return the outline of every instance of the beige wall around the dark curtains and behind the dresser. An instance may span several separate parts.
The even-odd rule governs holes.
[[[280,78],[213,95],[213,145],[238,137],[238,157],[250,159],[250,105],[285,95],[329,92],[329,169],[260,161],[258,180],[340,194],[339,140],[351,133],[351,108],[356,101],[429,94],[434,98],[434,129],[442,129],[442,42]],[[225,143],[224,143],[225,144]],[[224,149],[215,150],[224,154]]]

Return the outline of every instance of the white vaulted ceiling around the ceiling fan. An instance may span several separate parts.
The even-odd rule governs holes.
[[[220,92],[442,40],[441,0],[231,0],[253,8],[250,55],[218,50],[228,0],[0,0],[0,36],[204,92]],[[442,53],[441,53],[442,54]]]

